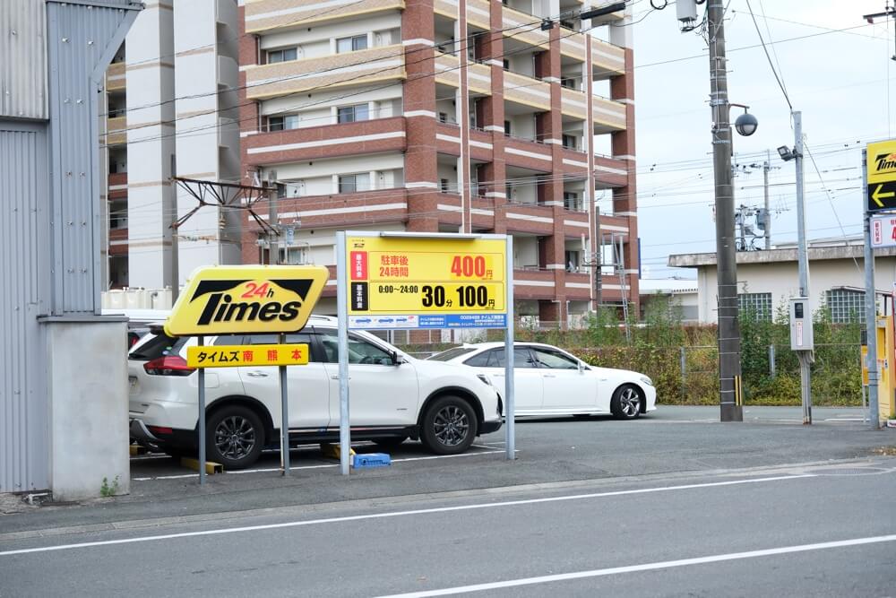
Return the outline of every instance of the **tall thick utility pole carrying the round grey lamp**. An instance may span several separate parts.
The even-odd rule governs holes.
[[[743,421],[744,411],[740,404],[740,325],[737,322],[734,188],[731,185],[731,107],[728,103],[728,63],[725,57],[723,22],[725,7],[723,0],[709,0],[707,4],[718,256],[720,419]]]

